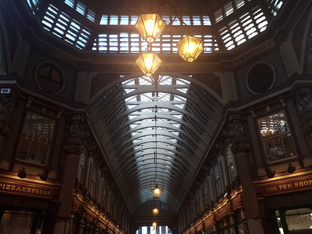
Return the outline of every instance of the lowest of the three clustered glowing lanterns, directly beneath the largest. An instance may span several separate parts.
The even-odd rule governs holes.
[[[157,70],[162,60],[154,53],[141,53],[135,61],[145,76],[152,76]]]

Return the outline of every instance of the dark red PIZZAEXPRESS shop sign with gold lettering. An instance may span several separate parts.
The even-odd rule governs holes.
[[[0,193],[10,193],[20,196],[51,198],[53,189],[43,186],[29,185],[26,183],[15,183],[0,180]]]

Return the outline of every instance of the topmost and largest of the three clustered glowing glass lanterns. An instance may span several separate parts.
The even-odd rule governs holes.
[[[136,29],[148,43],[156,41],[165,26],[166,23],[158,14],[140,15],[135,23]]]

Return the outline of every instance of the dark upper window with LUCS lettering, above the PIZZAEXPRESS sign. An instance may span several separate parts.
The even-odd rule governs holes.
[[[45,165],[51,153],[54,125],[53,120],[28,112],[17,159]]]

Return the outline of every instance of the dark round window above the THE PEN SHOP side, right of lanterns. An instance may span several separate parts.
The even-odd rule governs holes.
[[[263,93],[273,87],[275,75],[275,69],[271,63],[265,61],[257,62],[247,71],[247,89],[253,94]]]

